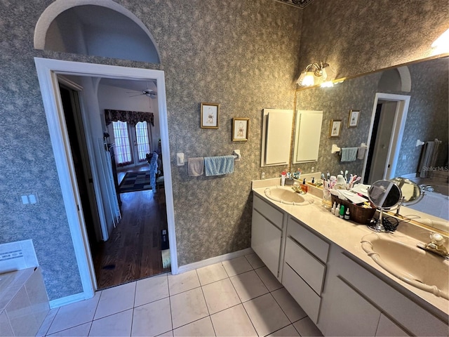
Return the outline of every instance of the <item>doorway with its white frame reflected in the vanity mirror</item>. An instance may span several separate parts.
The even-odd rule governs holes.
[[[376,93],[363,164],[363,183],[394,178],[410,96]]]

